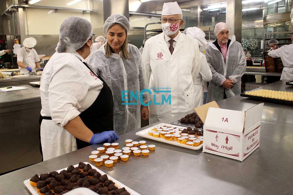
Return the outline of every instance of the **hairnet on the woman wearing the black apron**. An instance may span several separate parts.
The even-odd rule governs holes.
[[[71,16],[63,21],[59,31],[56,51],[72,52],[80,49],[91,38],[92,25],[84,18]]]

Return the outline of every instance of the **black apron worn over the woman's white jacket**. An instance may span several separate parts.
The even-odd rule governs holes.
[[[84,63],[86,67],[90,70],[86,63]],[[113,131],[113,95],[110,87],[107,83],[100,77],[97,76],[96,73],[93,73],[96,77],[98,77],[103,82],[103,88],[101,89],[97,99],[93,102],[93,104],[88,107],[85,111],[79,114],[82,122],[88,127],[94,134],[101,133],[104,131]],[[40,116],[39,124],[41,125],[42,120],[52,120],[51,117],[42,117]],[[39,131],[39,139],[40,139],[40,152],[42,154],[42,145],[41,145],[41,136]],[[76,139],[77,149],[84,148],[86,146],[90,146],[91,144],[82,141],[80,139]]]

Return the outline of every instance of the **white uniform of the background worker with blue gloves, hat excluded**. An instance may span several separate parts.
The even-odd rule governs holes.
[[[17,61],[21,61],[24,65],[34,69],[36,68],[36,62],[41,61],[37,52],[35,49],[32,49],[32,51],[28,52],[25,50],[25,47],[22,47],[18,52],[17,52]],[[18,66],[20,72],[28,72],[26,68],[21,68]]]

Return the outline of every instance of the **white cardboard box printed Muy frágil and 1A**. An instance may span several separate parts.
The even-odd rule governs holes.
[[[246,111],[209,108],[203,152],[243,161],[260,146],[263,104]]]

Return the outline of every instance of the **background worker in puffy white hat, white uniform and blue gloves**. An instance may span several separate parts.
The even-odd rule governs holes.
[[[33,47],[37,44],[37,40],[33,37],[29,37],[23,40],[23,47],[17,52],[17,65],[21,74],[27,74],[28,72],[32,72],[34,68],[38,68],[40,70],[40,58],[33,49]]]

